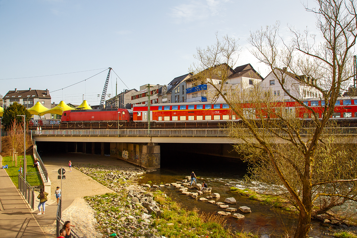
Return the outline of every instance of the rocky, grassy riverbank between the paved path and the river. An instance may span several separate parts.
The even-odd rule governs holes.
[[[187,210],[165,193],[149,184],[135,180],[146,170],[74,165],[78,170],[107,186],[115,193],[85,197],[96,211],[97,229],[117,237],[257,237],[254,234],[233,233],[222,216]],[[161,185],[164,186],[164,185]],[[159,186],[157,186],[159,187]]]

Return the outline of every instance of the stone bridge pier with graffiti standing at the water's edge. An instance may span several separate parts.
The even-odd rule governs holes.
[[[110,156],[144,168],[160,168],[160,146],[157,143],[110,142]]]

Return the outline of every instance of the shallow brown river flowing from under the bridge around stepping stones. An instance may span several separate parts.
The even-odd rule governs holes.
[[[268,205],[261,205],[260,202],[250,200],[248,197],[240,196],[229,191],[229,187],[236,186],[240,188],[251,188],[255,191],[276,191],[276,188],[260,182],[247,183],[243,180],[246,174],[247,165],[240,159],[222,158],[215,156],[197,155],[197,154],[177,154],[167,155],[161,154],[161,168],[154,172],[148,172],[145,177],[139,179],[139,183],[151,184],[165,184],[172,182],[180,182],[189,176],[194,171],[196,176],[201,177],[197,183],[202,183],[203,179],[207,182],[208,187],[212,188],[213,193],[219,193],[220,198],[213,198],[216,202],[224,202],[227,197],[234,197],[237,204],[229,204],[230,207],[237,208],[240,206],[248,206],[252,213],[244,214],[245,219],[237,220],[232,216],[227,217],[227,224],[237,231],[251,231],[258,233],[262,237],[283,236],[286,231],[293,235],[295,226],[297,224],[297,216],[295,214],[286,214],[280,212]],[[229,184],[229,185],[225,185]],[[183,195],[177,188],[164,187],[161,191],[171,196],[174,200],[181,203],[187,209],[199,208],[200,211],[206,213],[217,213],[224,211],[215,204],[208,202],[201,202],[193,199],[190,196]],[[195,192],[195,189],[188,189],[188,191]],[[209,193],[203,194],[199,197],[209,196]],[[239,211],[239,209],[238,209]],[[235,213],[241,213],[241,212]],[[310,237],[331,237],[326,233],[333,234],[328,231],[332,226],[334,230],[350,229],[356,230],[355,227],[335,226],[332,224],[323,224],[318,221],[312,222],[313,231],[310,232]]]

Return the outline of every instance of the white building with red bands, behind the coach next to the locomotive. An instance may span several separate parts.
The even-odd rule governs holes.
[[[150,104],[153,103],[159,103],[159,89],[162,88],[162,85],[154,85],[150,84]],[[140,90],[137,92],[132,92],[131,93],[131,108],[134,107],[134,105],[137,104],[147,104],[148,103],[148,97],[147,97],[147,85],[142,85],[140,86]]]

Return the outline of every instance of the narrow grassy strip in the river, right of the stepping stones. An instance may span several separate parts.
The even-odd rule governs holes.
[[[259,194],[253,190],[248,188],[240,189],[236,187],[230,187],[230,191],[236,192],[242,196],[246,196],[251,200],[260,201],[263,205],[270,205],[275,208],[281,208],[285,211],[295,211],[295,209],[288,203],[287,200],[281,198],[280,196],[272,196],[272,195],[265,195]]]

